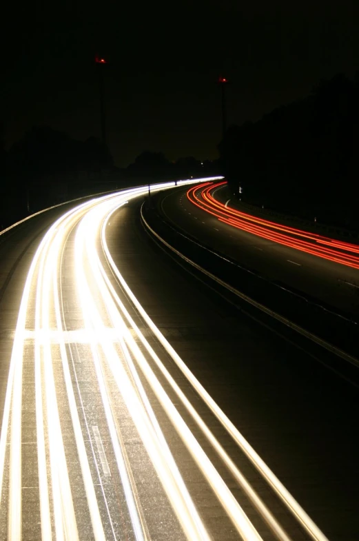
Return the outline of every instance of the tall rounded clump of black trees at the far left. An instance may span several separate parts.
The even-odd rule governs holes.
[[[113,170],[112,156],[100,141],[75,141],[47,126],[33,127],[8,152],[1,147],[0,154],[0,226],[81,195],[96,176]]]

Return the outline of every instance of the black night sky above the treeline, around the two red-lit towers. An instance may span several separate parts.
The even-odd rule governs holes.
[[[0,121],[8,145],[32,125],[99,135],[94,54],[105,56],[110,149],[216,157],[220,95],[228,121],[259,119],[321,78],[359,68],[356,1],[13,3],[3,17]]]

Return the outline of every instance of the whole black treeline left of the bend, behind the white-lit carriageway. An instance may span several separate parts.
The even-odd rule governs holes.
[[[90,137],[76,141],[51,127],[33,127],[6,152],[0,134],[0,229],[29,212],[96,192],[161,180],[205,176],[218,163],[194,157],[171,162],[141,152],[127,168],[114,167],[108,148]]]

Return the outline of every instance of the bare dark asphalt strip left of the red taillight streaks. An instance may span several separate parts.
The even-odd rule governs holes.
[[[215,198],[224,201],[219,187]],[[267,238],[232,227],[192,204],[187,190],[172,191],[161,207],[167,218],[200,243],[210,245],[268,280],[304,293],[325,306],[358,319],[359,269],[300,252]],[[201,194],[200,194],[201,195]],[[229,201],[230,206],[230,201]]]

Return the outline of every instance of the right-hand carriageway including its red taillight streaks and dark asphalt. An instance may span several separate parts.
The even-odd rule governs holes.
[[[230,202],[227,207],[221,203],[224,201],[221,194],[224,189],[225,186],[220,184],[212,189],[205,187],[205,198],[202,190],[192,190],[189,197],[187,190],[182,194],[172,192],[163,198],[163,212],[199,242],[213,247],[264,278],[298,294],[304,293],[340,314],[358,317],[358,246],[348,243],[350,251],[345,251],[345,243],[338,241],[334,248],[333,243],[328,248],[324,244],[326,239],[318,235],[307,238],[303,236],[305,232],[298,235],[291,231],[285,236],[288,227],[278,230],[278,227],[268,229],[266,223],[260,225],[248,220],[240,223],[236,216],[238,211],[231,210]],[[224,211],[233,215],[228,216]],[[263,222],[263,219],[259,222]],[[321,257],[316,256],[318,249],[324,251]],[[328,253],[329,249],[334,249],[334,254]],[[345,265],[341,264],[344,258]],[[332,261],[335,259],[338,262]]]

